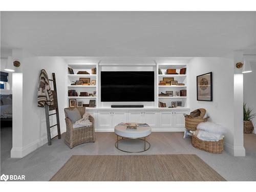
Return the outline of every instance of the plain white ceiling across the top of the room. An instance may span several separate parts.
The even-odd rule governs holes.
[[[256,45],[255,12],[1,12],[1,52],[222,56]]]

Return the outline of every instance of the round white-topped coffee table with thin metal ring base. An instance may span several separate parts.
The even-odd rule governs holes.
[[[117,141],[115,143],[115,147],[122,151],[127,153],[140,153],[145,152],[150,148],[150,143],[146,141],[146,137],[151,134],[151,127],[150,126],[144,126],[144,127],[137,127],[136,130],[127,130],[125,125],[116,125],[115,126],[115,134],[117,135]],[[119,137],[122,137],[122,139],[119,140]],[[141,139],[143,138],[143,139]],[[138,152],[132,152],[132,151],[125,151],[118,147],[118,143],[125,139],[139,139],[144,141],[144,150],[138,151]],[[148,146],[146,146],[146,143]]]

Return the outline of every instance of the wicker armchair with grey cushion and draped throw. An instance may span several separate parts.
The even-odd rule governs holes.
[[[94,142],[95,136],[94,136],[94,118],[90,115],[89,120],[92,122],[91,126],[83,126],[83,127],[77,127],[73,128],[71,120],[67,117],[66,110],[73,110],[74,108],[65,108],[65,120],[66,120],[66,139],[65,143],[70,147],[73,148],[76,145],[87,143],[87,142]],[[79,107],[77,110],[80,112],[81,116],[85,113],[86,108],[85,107]]]

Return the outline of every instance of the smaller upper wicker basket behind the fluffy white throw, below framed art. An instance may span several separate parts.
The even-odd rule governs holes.
[[[199,109],[201,111],[200,116],[191,118],[190,115],[185,115],[185,128],[190,131],[196,131],[197,125],[201,122],[206,122],[209,117],[203,118],[206,110]]]

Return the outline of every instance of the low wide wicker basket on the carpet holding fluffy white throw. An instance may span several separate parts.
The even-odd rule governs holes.
[[[214,153],[214,154],[220,154],[223,152],[224,149],[224,139],[221,139],[219,141],[203,141],[197,136],[192,136],[192,145],[199,150]]]

